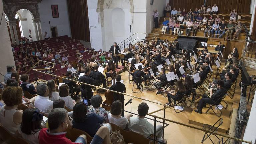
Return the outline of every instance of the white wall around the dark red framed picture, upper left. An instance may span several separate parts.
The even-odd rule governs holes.
[[[52,18],[51,5],[58,5],[58,18]],[[57,26],[58,36],[68,35],[68,37],[71,37],[67,0],[43,0],[38,4],[38,9],[42,35],[46,31],[51,36],[50,26]],[[50,21],[50,24],[48,21]]]

